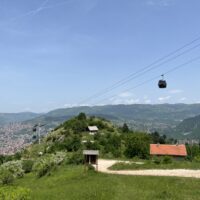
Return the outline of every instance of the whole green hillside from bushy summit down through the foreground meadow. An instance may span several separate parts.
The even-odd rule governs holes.
[[[88,125],[97,126],[98,133],[90,135]],[[35,141],[14,156],[0,157],[0,199],[198,199],[197,179],[109,175],[83,167],[83,149],[97,149],[103,158],[150,163],[149,144],[157,141],[169,143],[157,133],[133,132],[127,125],[117,127],[81,113],[56,127],[41,144]]]

